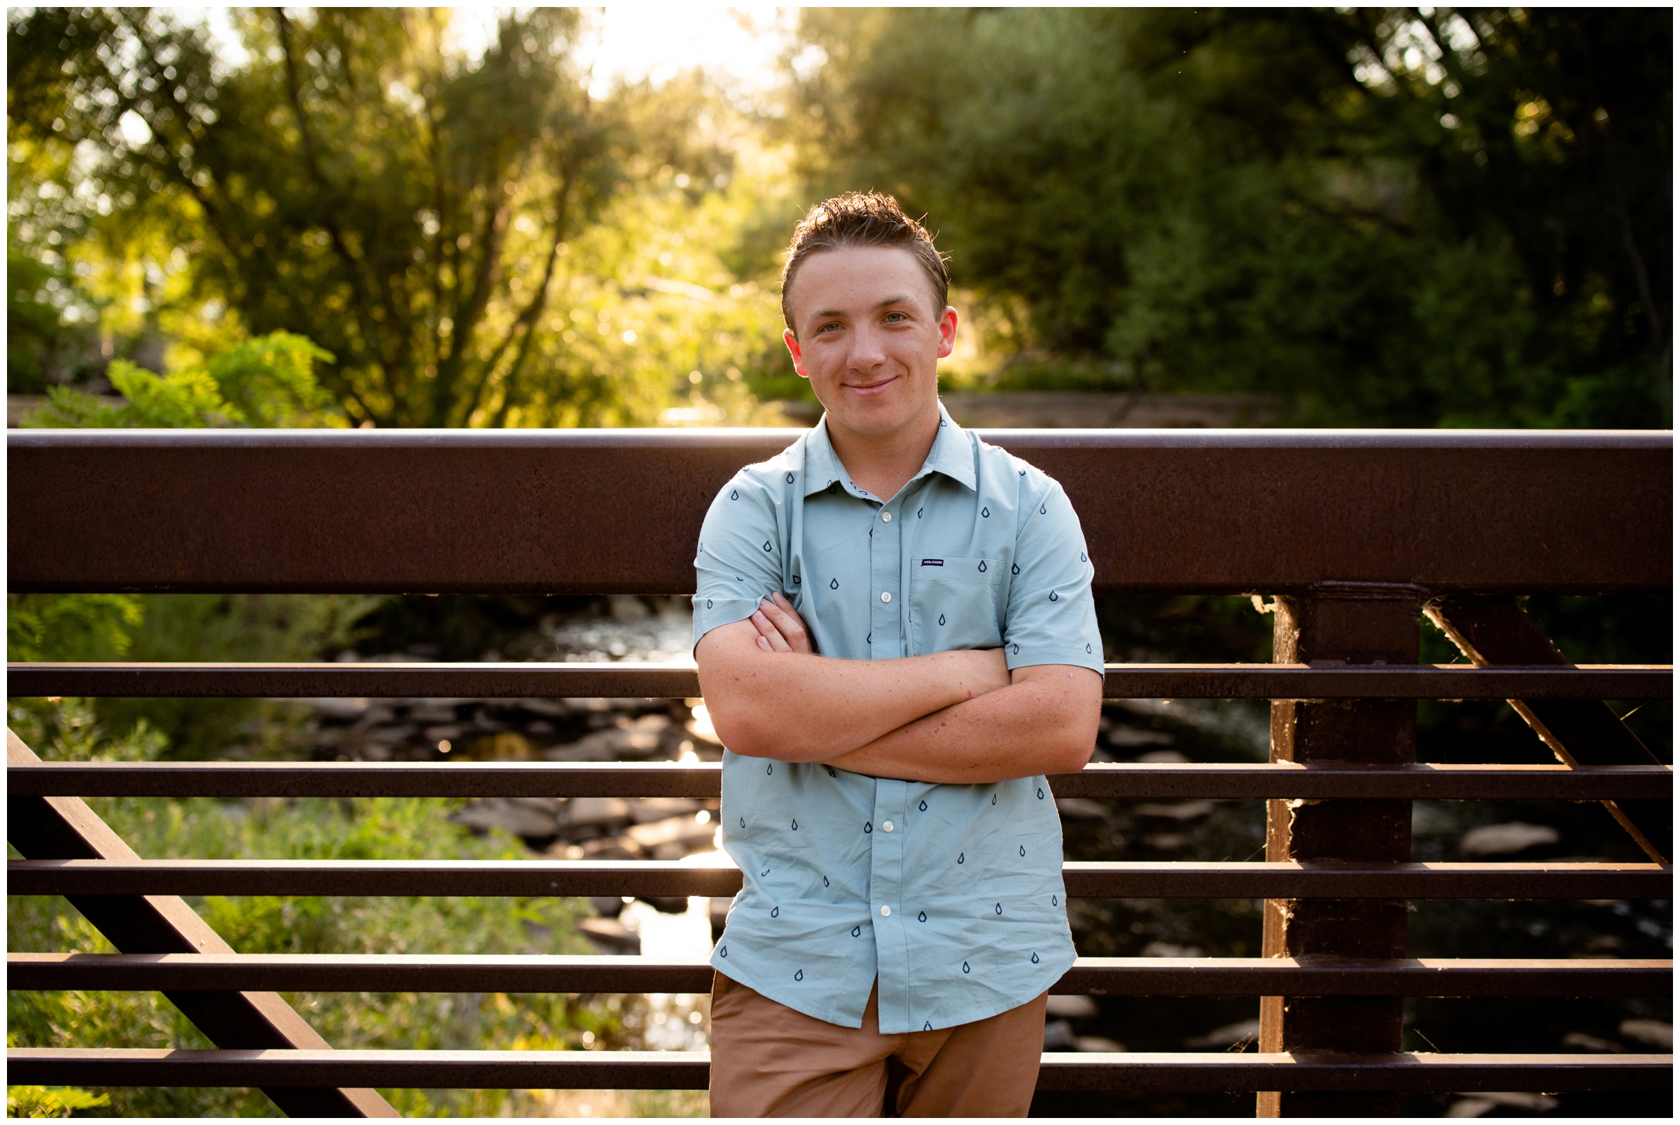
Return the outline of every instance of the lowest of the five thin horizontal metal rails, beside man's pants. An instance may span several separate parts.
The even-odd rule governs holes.
[[[1053,1053],[1040,1090],[1668,1090],[1670,1054]],[[42,1086],[425,1086],[704,1090],[702,1051],[171,1051],[10,1048],[7,1081]]]

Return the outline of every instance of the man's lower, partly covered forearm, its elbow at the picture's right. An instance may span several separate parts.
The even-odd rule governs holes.
[[[1102,680],[1087,668],[1040,675],[946,707],[827,762],[874,777],[988,784],[1077,772],[1090,759]]]

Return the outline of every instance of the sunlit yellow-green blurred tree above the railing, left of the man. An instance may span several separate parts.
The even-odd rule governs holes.
[[[447,10],[234,20],[242,60],[156,10],[13,15],[13,165],[59,153],[71,190],[109,212],[109,238],[190,262],[205,319],[321,343],[334,356],[323,385],[356,423],[543,421],[588,391],[598,408],[583,420],[610,418],[600,363],[544,356],[564,327],[551,309],[564,259],[633,185],[662,178],[697,198],[727,181],[704,91],[593,99],[570,8],[502,17],[477,57]],[[580,374],[600,386],[564,386]],[[647,395],[660,406],[672,374]],[[622,390],[645,395],[633,379]]]

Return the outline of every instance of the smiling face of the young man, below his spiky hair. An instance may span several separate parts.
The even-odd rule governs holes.
[[[956,343],[956,309],[936,309],[916,255],[899,247],[813,254],[793,275],[793,369],[828,425],[890,437],[937,413],[936,364]]]

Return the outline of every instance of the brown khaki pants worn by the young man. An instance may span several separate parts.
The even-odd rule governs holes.
[[[712,1117],[1026,1117],[1045,997],[990,1019],[880,1034],[815,1019],[712,976]]]

